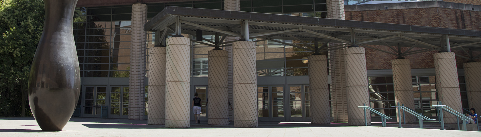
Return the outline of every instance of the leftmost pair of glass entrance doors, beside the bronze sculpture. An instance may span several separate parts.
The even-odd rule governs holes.
[[[106,99],[106,87],[102,86],[84,86],[84,94],[82,95],[82,117],[101,117],[101,114],[108,113],[108,110],[102,111],[102,106],[108,104]]]

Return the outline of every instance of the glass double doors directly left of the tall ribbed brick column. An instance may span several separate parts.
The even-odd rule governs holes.
[[[111,86],[109,99],[109,118],[128,118],[128,86]]]

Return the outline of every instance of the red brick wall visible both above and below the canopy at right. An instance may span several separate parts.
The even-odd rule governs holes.
[[[418,9],[394,9],[394,10],[370,10],[370,11],[346,11],[346,20],[379,22],[379,23],[397,23],[409,25],[421,25],[431,27],[456,28],[481,31],[481,12],[466,11],[448,8],[418,8]],[[373,45],[371,45],[373,46]],[[394,53],[386,46],[373,46],[384,51]],[[413,48],[418,50],[421,48]],[[401,51],[407,50],[403,47]],[[463,51],[452,50],[457,55],[467,57]],[[432,54],[438,51],[418,53],[405,56],[411,61],[412,69],[432,69],[434,68]],[[480,52],[473,52],[473,55],[479,55]],[[366,48],[367,69],[391,69],[391,60],[396,56],[380,52],[374,49]],[[422,58],[422,59],[419,59]],[[478,62],[481,59],[477,60]],[[458,69],[462,69],[462,63],[468,62],[467,59],[456,57]]]

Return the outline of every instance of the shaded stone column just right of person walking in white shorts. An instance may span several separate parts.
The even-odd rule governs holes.
[[[211,50],[207,52],[209,64],[209,125],[228,125],[228,84],[227,84],[227,51]]]

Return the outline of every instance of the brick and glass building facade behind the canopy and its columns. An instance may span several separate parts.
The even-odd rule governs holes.
[[[226,0],[229,2],[228,0]],[[224,9],[227,5],[223,0],[187,1],[187,2],[162,2],[162,0],[144,0],[144,14],[150,20],[166,6],[194,7],[206,9]],[[234,0],[235,1],[235,0]],[[334,1],[334,2],[333,2]],[[440,1],[427,1],[440,2]],[[137,2],[134,2],[137,3]],[[468,30],[480,30],[480,6],[464,4],[465,7],[471,6],[472,10],[459,8],[445,8],[434,4],[426,7],[407,8],[407,9],[386,9],[379,10],[372,7],[379,7],[376,4],[367,5],[348,5],[344,8],[327,6],[332,3],[343,3],[336,0],[240,0],[240,11],[289,14],[297,16],[328,17],[342,19],[344,13],[346,20],[400,23],[412,25],[424,25]],[[418,2],[416,2],[418,3]],[[455,4],[445,2],[448,4]],[[82,6],[85,5],[85,6]],[[134,17],[137,17],[137,9],[133,3],[105,3],[105,4],[77,4],[74,17],[74,36],[79,57],[81,79],[81,95],[76,114],[81,117],[108,117],[108,118],[129,118],[146,119],[149,114],[148,100],[148,80],[146,73],[148,67],[132,71],[133,62],[132,43],[135,32]],[[396,7],[388,5],[384,7]],[[137,4],[138,5],[138,4]],[[335,4],[334,4],[335,5]],[[339,4],[338,4],[339,5]],[[376,5],[376,6],[374,6]],[[441,4],[440,4],[441,5]],[[362,7],[364,6],[364,7]],[[334,8],[332,8],[334,7]],[[343,6],[338,6],[343,7]],[[359,8],[360,7],[360,8]],[[369,9],[372,8],[372,9]],[[476,8],[476,9],[475,9]],[[360,10],[362,9],[362,10]],[[469,9],[469,8],[468,8]],[[330,11],[339,14],[331,15]],[[142,12],[140,10],[140,12]],[[450,14],[450,13],[456,14]],[[421,14],[421,15],[418,15]],[[422,16],[425,15],[425,16]],[[416,17],[416,18],[413,18]],[[437,19],[436,22],[433,20]],[[144,22],[144,23],[145,23]],[[450,23],[453,22],[453,23]],[[143,25],[142,25],[143,26]],[[142,35],[142,34],[140,34]],[[145,38],[140,43],[144,49],[136,49],[147,52],[148,48],[161,44],[159,35],[153,32],[145,33]],[[194,37],[191,34],[182,34],[185,37]],[[214,35],[203,35],[203,38],[215,41]],[[218,39],[218,38],[217,38]],[[258,39],[253,39],[253,41]],[[299,44],[298,41],[278,40],[288,44]],[[311,43],[312,44],[312,43]],[[373,46],[377,47],[377,46]],[[383,50],[390,50],[387,47]],[[205,112],[207,109],[208,87],[208,55],[207,52],[212,47],[199,43],[192,43],[190,47],[190,94],[194,92],[200,94],[203,100],[201,120],[207,120]],[[402,47],[401,50],[407,50]],[[225,49],[225,50],[228,50]],[[413,48],[412,50],[417,50]],[[464,51],[453,51],[458,55],[475,58],[480,54],[479,48]],[[299,49],[275,41],[256,42],[255,45],[256,66],[257,66],[257,103],[259,121],[311,121],[311,94],[309,87],[309,71],[305,62],[309,51]],[[338,50],[328,54],[327,67],[329,70],[328,80],[331,90],[329,103],[331,105],[331,117],[334,122],[347,122],[347,108],[342,101],[342,64],[330,61],[342,60],[343,53]],[[437,112],[430,108],[431,105],[439,101],[437,93],[437,83],[434,70],[433,54],[437,51],[423,52],[406,56],[411,62],[412,88],[414,91],[414,108],[427,116],[437,116]],[[148,53],[145,53],[147,55]],[[135,56],[137,57],[137,56]],[[140,56],[142,57],[142,56]],[[146,56],[143,56],[146,57]],[[367,59],[367,79],[369,83],[369,102],[370,107],[379,110],[381,113],[391,117],[396,117],[396,111],[392,105],[396,105],[394,98],[394,82],[392,78],[391,60],[396,56],[380,52],[378,50],[366,49]],[[144,58],[145,59],[145,58]],[[140,58],[141,60],[141,58]],[[456,57],[458,69],[459,87],[461,91],[461,101],[463,108],[472,107],[469,105],[466,82],[464,82],[464,69],[462,64],[469,60]],[[475,59],[480,62],[480,59]],[[147,62],[147,61],[146,61]],[[148,62],[147,62],[148,63]],[[146,64],[146,63],[144,63]],[[333,70],[333,68],[339,70]],[[143,73],[137,74],[143,71]],[[136,74],[143,77],[144,82],[139,79],[133,80]],[[333,75],[336,76],[335,79]],[[142,77],[140,77],[142,78]],[[133,84],[134,83],[134,84]],[[139,83],[139,84],[136,84]],[[137,90],[133,90],[132,85]],[[336,88],[334,88],[337,86]],[[145,90],[143,90],[145,89]],[[334,93],[332,89],[336,89]],[[140,90],[140,91],[139,91]],[[133,92],[136,92],[135,94]],[[136,97],[133,98],[133,95]],[[229,102],[232,103],[232,92],[228,94]],[[134,102],[135,106],[134,106]],[[103,106],[103,107],[102,107]],[[232,119],[232,111],[229,109],[229,118]],[[136,116],[133,116],[136,115]],[[372,115],[373,121],[380,121],[377,115]],[[193,115],[191,115],[193,119]]]

